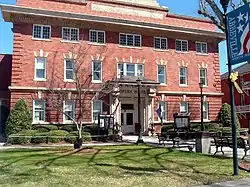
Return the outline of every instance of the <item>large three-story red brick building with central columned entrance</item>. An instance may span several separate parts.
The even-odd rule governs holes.
[[[199,121],[200,81],[204,119],[217,119],[222,96],[218,43],[224,35],[210,21],[170,14],[156,0],[17,0],[16,6],[1,8],[5,21],[14,24],[10,105],[26,98],[34,123],[69,122],[47,102],[51,83],[68,92],[64,109],[77,118],[73,69],[79,61],[84,61],[85,78],[90,77],[82,106],[86,124],[98,113],[114,113],[123,133],[134,133],[138,75],[145,133],[159,124],[159,104],[164,123],[173,122],[176,112],[190,112],[191,120]],[[119,96],[93,97],[110,80],[123,80],[115,92]]]

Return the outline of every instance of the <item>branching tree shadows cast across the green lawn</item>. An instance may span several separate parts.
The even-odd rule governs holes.
[[[17,160],[14,160],[4,166],[0,167],[1,173],[7,173],[10,175],[11,180],[15,181],[15,184],[20,184],[21,181],[31,180],[31,176],[36,176],[37,173],[53,175],[50,170],[50,166],[52,166],[55,161],[71,157],[78,156],[80,160],[78,160],[79,164],[81,164],[81,154],[84,151],[91,149],[91,152],[88,153],[90,156],[89,159],[86,158],[83,160],[83,163],[86,162],[87,166],[93,168],[96,172],[101,173],[103,176],[111,176],[121,178],[126,175],[138,176],[138,175],[155,175],[157,173],[171,173],[178,177],[188,177],[192,180],[201,181],[201,176],[211,176],[211,177],[226,177],[226,174],[221,173],[212,173],[208,171],[201,171],[196,169],[196,163],[183,163],[182,161],[178,161],[178,157],[185,158],[185,156],[190,157],[190,153],[185,151],[175,151],[173,148],[159,148],[159,147],[139,147],[139,148],[129,148],[123,146],[122,148],[82,148],[78,150],[66,149],[66,150],[51,150],[46,154],[39,154],[39,151],[36,151],[36,154],[25,155]],[[154,152],[156,150],[156,152]],[[25,150],[26,151],[26,150]],[[48,149],[46,149],[48,151]],[[159,151],[159,153],[157,153]],[[21,151],[20,151],[21,152]],[[177,159],[174,159],[175,152],[177,153]],[[58,155],[60,154],[60,155]],[[62,154],[62,155],[61,155]],[[170,158],[168,157],[170,154]],[[172,154],[172,155],[171,155]],[[181,156],[178,154],[181,154]],[[43,156],[44,159],[37,161],[35,165],[38,168],[29,169],[25,172],[21,172],[18,174],[13,174],[11,169],[8,169],[11,165],[22,162],[26,159],[30,159],[36,156]],[[84,156],[84,155],[83,155]],[[205,157],[213,157],[210,155],[201,155]],[[217,159],[225,159],[221,156],[216,156]],[[228,158],[227,158],[228,159]],[[67,160],[70,164],[72,164],[72,159]],[[134,166],[131,166],[133,165]],[[209,164],[209,163],[205,163]],[[57,164],[58,165],[58,164]],[[176,166],[176,167],[173,167]],[[66,166],[63,165],[62,166]],[[106,170],[107,168],[111,168],[114,170]],[[121,169],[118,171],[116,168]],[[117,172],[115,172],[117,170]],[[110,172],[111,171],[111,172]],[[204,181],[204,184],[209,184],[209,182]]]

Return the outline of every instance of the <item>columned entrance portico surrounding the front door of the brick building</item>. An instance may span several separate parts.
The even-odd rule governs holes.
[[[119,89],[111,96],[111,113],[114,113],[115,122],[121,125],[123,134],[136,134],[138,126],[138,85],[137,77],[122,77],[118,79]],[[148,133],[150,124],[153,123],[154,109],[153,98],[156,94],[157,83],[142,78],[140,121],[143,134]]]

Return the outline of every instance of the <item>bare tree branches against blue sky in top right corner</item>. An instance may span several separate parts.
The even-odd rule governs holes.
[[[229,9],[233,10],[248,3],[249,0],[229,0]],[[199,14],[209,18],[217,25],[223,32],[225,32],[225,21],[220,0],[199,0],[200,10]]]

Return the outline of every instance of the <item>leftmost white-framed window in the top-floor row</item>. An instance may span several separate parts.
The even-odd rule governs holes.
[[[33,25],[33,38],[50,39],[51,27],[49,25]]]

